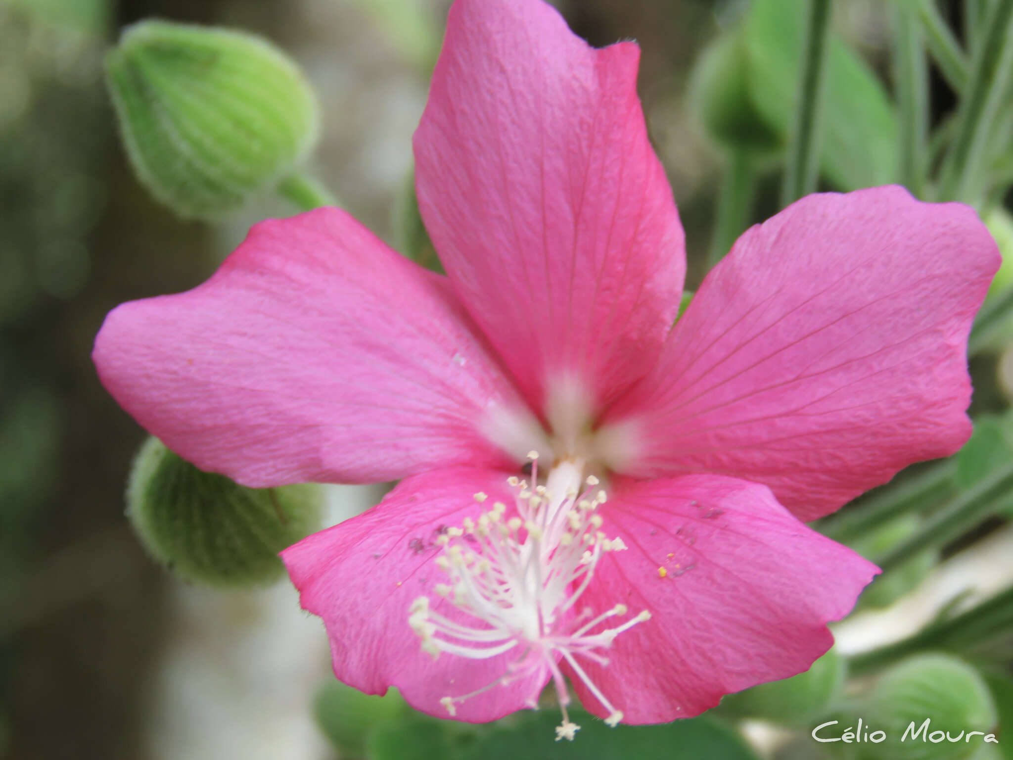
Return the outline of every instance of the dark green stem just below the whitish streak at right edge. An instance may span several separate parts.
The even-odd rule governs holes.
[[[853,675],[871,673],[916,652],[966,652],[1013,629],[1013,588],[1000,592],[966,612],[929,625],[902,641],[856,655],[848,661]]]

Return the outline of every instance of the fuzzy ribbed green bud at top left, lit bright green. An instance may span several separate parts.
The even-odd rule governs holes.
[[[284,53],[251,34],[143,21],[105,70],[135,171],[182,217],[240,208],[316,141],[313,90]]]

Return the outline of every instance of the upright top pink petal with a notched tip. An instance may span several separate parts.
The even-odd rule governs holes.
[[[591,409],[614,397],[676,314],[683,231],[638,61],[632,43],[591,48],[541,0],[451,8],[415,133],[418,200],[455,289],[536,408],[574,389]]]

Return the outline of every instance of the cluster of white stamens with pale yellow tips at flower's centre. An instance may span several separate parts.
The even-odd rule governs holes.
[[[606,495],[596,489],[598,478],[588,477],[580,492],[583,464],[563,461],[538,484],[538,454],[531,452],[531,484],[517,477],[508,479],[515,492],[517,515],[506,518],[506,505],[496,502],[478,520],[466,518],[460,527],[440,536],[443,553],[438,566],[449,577],[435,591],[447,598],[473,621],[451,620],[430,607],[428,597],[416,599],[408,623],[422,639],[422,650],[484,660],[505,652],[518,652],[498,678],[470,694],[446,696],[441,701],[448,712],[456,704],[496,686],[523,678],[547,667],[562,710],[556,741],[573,739],[579,729],[566,711],[570,697],[559,669],[564,660],[588,690],[609,710],[606,723],[616,726],[623,713],[606,698],[577,658],[608,665],[601,654],[624,630],[650,618],[647,611],[628,617],[620,625],[606,621],[627,614],[617,604],[604,612],[590,607],[576,610],[604,552],[621,551],[621,538],[608,538],[600,530],[602,518],[595,514]],[[485,493],[476,493],[484,503]],[[537,707],[537,695],[530,704]]]

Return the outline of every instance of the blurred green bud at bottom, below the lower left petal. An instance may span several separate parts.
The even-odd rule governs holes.
[[[391,688],[384,696],[370,696],[333,679],[320,688],[313,700],[317,726],[341,757],[362,757],[377,726],[410,712],[397,689]]]

